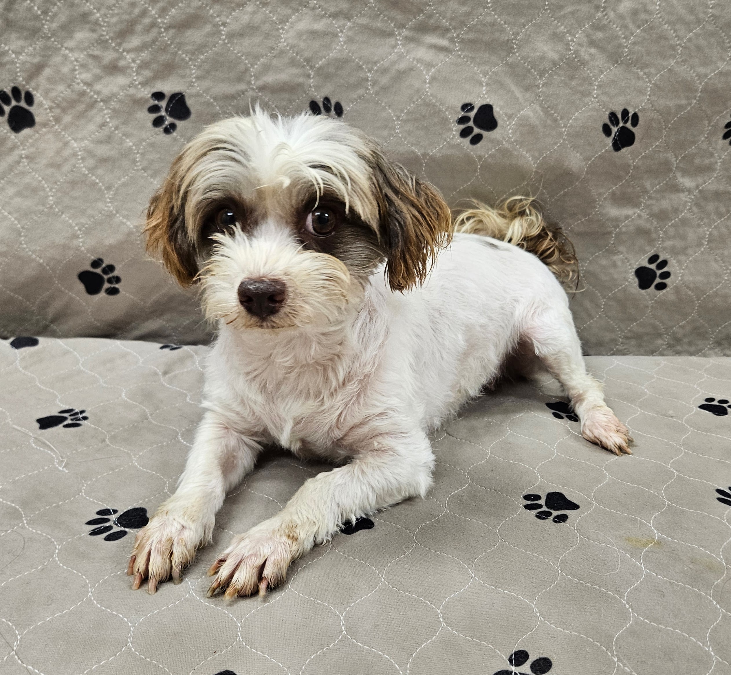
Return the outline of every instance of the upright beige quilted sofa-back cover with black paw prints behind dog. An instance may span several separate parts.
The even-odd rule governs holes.
[[[530,192],[589,354],[730,354],[731,5],[6,0],[0,334],[208,339],[140,221],[207,123],[341,117],[451,205]]]

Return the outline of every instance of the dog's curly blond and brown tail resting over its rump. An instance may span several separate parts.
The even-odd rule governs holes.
[[[510,197],[497,207],[473,202],[455,218],[455,232],[493,237],[537,256],[558,281],[577,286],[579,264],[574,245],[557,225],[549,225],[531,197]]]

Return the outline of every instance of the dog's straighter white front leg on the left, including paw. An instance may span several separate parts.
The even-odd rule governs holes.
[[[197,429],[178,489],[162,503],[148,525],[140,530],[129,559],[132,587],[149,578],[148,592],[173,577],[213,535],[216,511],[226,493],[254,468],[261,446],[241,435],[217,413],[208,411]]]

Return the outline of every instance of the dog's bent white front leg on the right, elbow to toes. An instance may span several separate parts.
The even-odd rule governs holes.
[[[332,537],[348,519],[372,514],[431,485],[434,457],[421,430],[379,433],[348,465],[310,478],[276,516],[236,536],[213,563],[209,597],[264,595],[281,584],[287,568],[315,544]]]

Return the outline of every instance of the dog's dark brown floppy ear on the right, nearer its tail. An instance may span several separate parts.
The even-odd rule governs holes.
[[[423,283],[452,237],[452,214],[436,188],[374,152],[379,229],[385,243],[388,283],[407,291]]]

